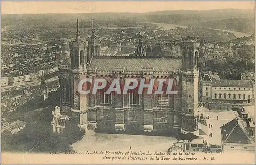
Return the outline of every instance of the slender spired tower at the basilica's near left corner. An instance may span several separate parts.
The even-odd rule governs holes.
[[[76,39],[70,43],[70,106],[71,117],[77,121],[77,124],[80,125],[80,127],[86,127],[88,94],[80,94],[78,91],[78,84],[82,79],[87,78],[88,42],[80,38],[80,31],[78,28],[79,24],[77,19]]]

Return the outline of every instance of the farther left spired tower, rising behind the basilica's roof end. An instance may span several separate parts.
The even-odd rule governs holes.
[[[93,56],[100,56],[100,51],[101,51],[101,37],[96,36],[96,31],[94,28],[94,19],[93,19],[92,35],[88,42],[88,52],[89,52],[89,56],[87,59],[88,63],[90,62]]]

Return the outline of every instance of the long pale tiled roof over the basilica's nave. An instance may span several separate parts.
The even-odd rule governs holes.
[[[123,68],[125,71],[141,71],[143,68],[154,68],[154,71],[177,71],[182,67],[182,59],[157,59],[157,58],[93,58],[90,68],[111,71],[114,68]]]

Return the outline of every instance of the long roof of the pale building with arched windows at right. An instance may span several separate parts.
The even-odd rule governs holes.
[[[213,87],[252,87],[252,81],[250,80],[212,80]]]

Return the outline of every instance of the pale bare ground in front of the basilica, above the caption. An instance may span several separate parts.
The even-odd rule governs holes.
[[[131,150],[136,151],[162,151],[167,152],[169,147],[176,142],[175,137],[145,136],[119,134],[95,133],[94,130],[86,130],[86,135],[73,144],[74,150]]]

